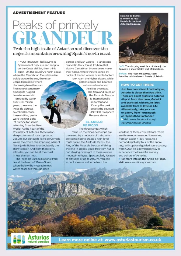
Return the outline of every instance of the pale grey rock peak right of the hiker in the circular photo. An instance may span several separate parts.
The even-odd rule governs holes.
[[[88,100],[84,96],[83,92],[78,92],[77,96],[71,101],[68,110],[77,111],[82,114],[86,114],[88,109]]]

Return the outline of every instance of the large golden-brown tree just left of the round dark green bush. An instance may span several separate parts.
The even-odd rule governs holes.
[[[138,208],[137,217],[139,219],[139,223],[141,226],[146,227],[148,225],[148,221],[153,216],[159,216],[154,206],[143,205]]]

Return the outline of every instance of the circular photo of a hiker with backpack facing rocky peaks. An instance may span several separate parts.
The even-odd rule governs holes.
[[[84,90],[70,81],[50,84],[41,96],[40,109],[44,119],[52,126],[66,129],[79,124],[88,109]]]

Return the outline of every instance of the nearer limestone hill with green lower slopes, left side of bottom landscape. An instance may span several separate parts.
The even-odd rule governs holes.
[[[26,216],[29,224],[37,223],[85,204],[91,198],[95,198],[92,192],[80,184],[39,184],[30,188],[19,202],[8,206],[8,219]]]

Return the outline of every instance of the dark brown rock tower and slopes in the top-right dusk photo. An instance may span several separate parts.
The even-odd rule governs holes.
[[[129,46],[134,53],[146,55],[161,55],[168,57],[168,26],[164,23],[160,24],[160,19],[156,16],[151,16],[144,26],[144,33],[135,39],[127,40],[119,45],[120,57],[125,48]],[[133,57],[136,59],[139,56]],[[126,62],[127,61],[127,62]],[[145,61],[145,60],[144,60]],[[151,60],[150,60],[151,61]],[[120,63],[129,63],[129,60]],[[131,63],[158,63],[156,62],[131,62]],[[167,63],[167,62],[160,62]]]

